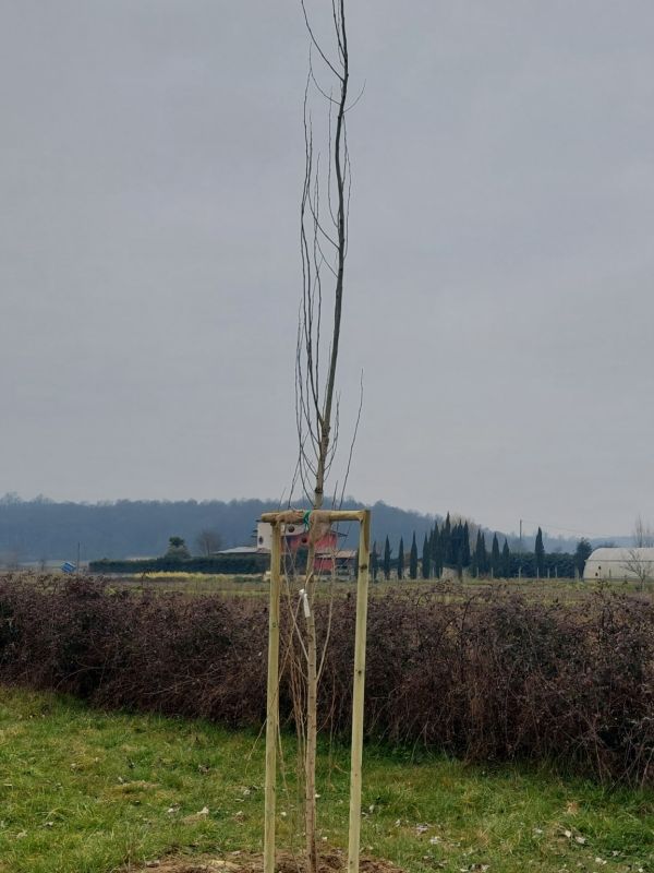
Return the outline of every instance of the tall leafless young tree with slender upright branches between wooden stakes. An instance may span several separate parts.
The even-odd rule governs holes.
[[[331,44],[319,36],[300,0],[310,38],[310,64],[304,93],[304,187],[301,200],[300,248],[302,254],[302,299],[295,356],[295,409],[298,426],[298,477],[315,513],[325,500],[325,486],[335,459],[338,433],[336,374],[341,336],[348,215],[350,158],[347,141],[347,110],[350,81],[346,0],[332,0],[328,17]],[[314,67],[314,61],[317,67]],[[324,152],[314,142],[313,105],[325,108]],[[332,287],[330,330],[323,324]],[[360,407],[361,410],[361,407]],[[356,429],[355,431],[356,432]],[[349,462],[348,462],[349,468]],[[347,469],[344,478],[347,480]],[[343,486],[344,489],[344,486]],[[299,670],[305,699],[304,732],[304,833],[308,873],[317,871],[316,840],[316,748],[317,689],[319,666],[315,624],[315,542],[310,536],[306,573],[298,587],[305,591],[304,627],[294,624]],[[326,645],[326,644],[325,644]]]

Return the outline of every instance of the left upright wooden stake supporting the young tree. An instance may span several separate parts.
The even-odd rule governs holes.
[[[270,549],[270,608],[268,613],[268,691],[266,709],[266,810],[264,873],[275,873],[275,809],[277,801],[277,729],[279,726],[279,593],[281,529],[272,522]]]

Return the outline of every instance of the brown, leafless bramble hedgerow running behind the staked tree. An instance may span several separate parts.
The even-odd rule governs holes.
[[[317,605],[326,626],[327,603]],[[267,608],[259,598],[111,591],[97,579],[0,578],[0,681],[95,705],[258,726]],[[288,641],[289,625],[283,634]],[[334,603],[323,729],[351,716],[354,598]],[[292,721],[288,649],[280,709]],[[654,784],[654,607],[609,591],[572,603],[437,586],[371,599],[366,732],[474,761],[556,762]]]

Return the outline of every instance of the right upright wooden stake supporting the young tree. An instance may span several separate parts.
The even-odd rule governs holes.
[[[365,685],[365,632],[371,553],[371,513],[360,516],[359,578],[356,582],[356,631],[354,636],[354,684],[352,690],[352,753],[350,764],[350,835],[348,873],[359,873],[361,842],[361,767],[363,760],[363,693]]]

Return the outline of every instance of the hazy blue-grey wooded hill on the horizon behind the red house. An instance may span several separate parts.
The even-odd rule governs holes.
[[[363,505],[349,500],[343,507]],[[183,537],[191,551],[197,552],[195,540],[202,530],[218,531],[225,547],[249,545],[261,514],[277,507],[276,502],[265,500],[57,503],[7,494],[0,498],[0,565],[74,560],[77,543],[82,561],[160,555],[171,536]],[[373,539],[380,540],[380,546],[387,535],[393,546],[400,537],[410,545],[414,530],[422,543],[434,525],[435,516],[385,503],[372,509]],[[349,535],[346,542],[354,543],[354,528],[343,527]]]

